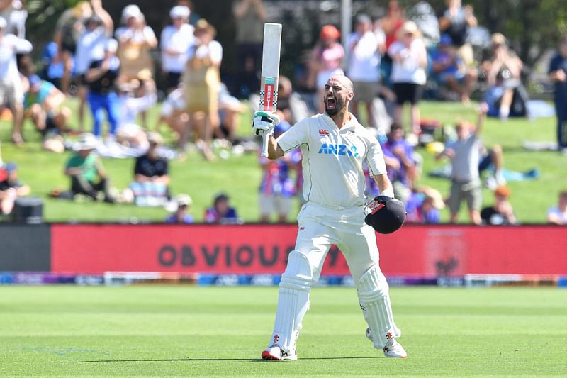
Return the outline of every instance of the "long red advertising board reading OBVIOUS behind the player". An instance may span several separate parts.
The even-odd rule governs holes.
[[[52,272],[281,273],[297,226],[53,225]],[[567,274],[567,228],[404,226],[378,235],[385,274]],[[348,274],[337,248],[322,274]]]

